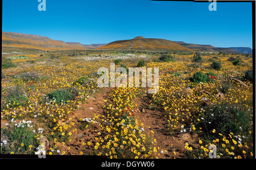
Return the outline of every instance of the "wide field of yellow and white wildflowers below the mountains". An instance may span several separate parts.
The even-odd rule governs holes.
[[[110,63],[158,67],[158,92],[98,87]],[[2,58],[1,90],[1,154],[254,158],[248,54],[22,54]]]

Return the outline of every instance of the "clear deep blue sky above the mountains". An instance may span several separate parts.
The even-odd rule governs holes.
[[[150,0],[3,0],[2,31],[47,36],[81,44],[109,43],[136,36],[252,48],[250,2]]]

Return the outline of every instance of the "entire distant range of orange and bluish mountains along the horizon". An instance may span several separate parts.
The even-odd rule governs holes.
[[[252,54],[249,47],[221,48],[212,45],[187,44],[184,41],[170,41],[165,39],[146,39],[142,36],[130,40],[118,40],[109,44],[83,45],[80,42],[64,42],[52,40],[46,36],[28,35],[26,33],[2,32],[2,47],[28,48],[40,50],[172,50],[180,52],[224,52]]]

